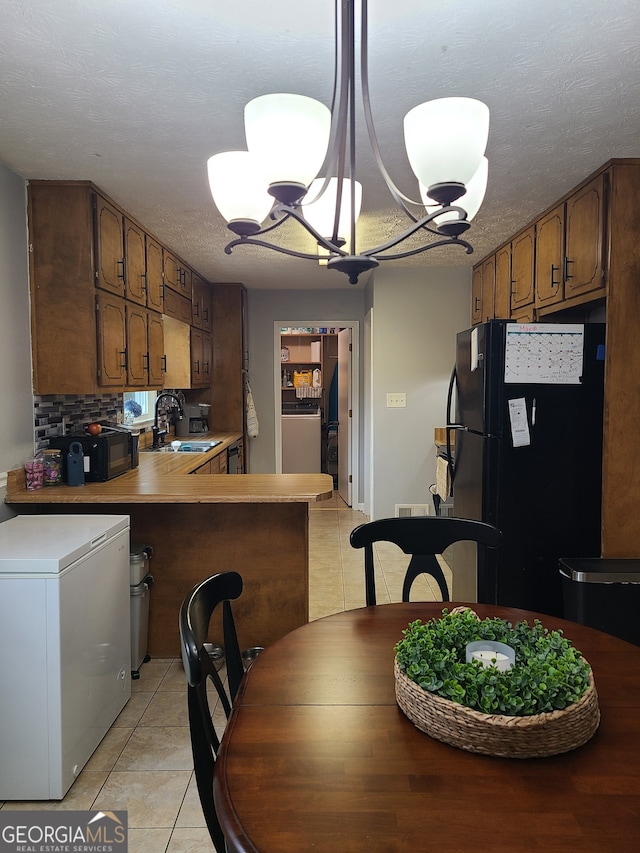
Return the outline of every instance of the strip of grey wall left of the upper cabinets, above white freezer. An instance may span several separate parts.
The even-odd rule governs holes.
[[[26,184],[0,164],[0,501],[34,452]],[[0,503],[0,520],[15,513]]]

